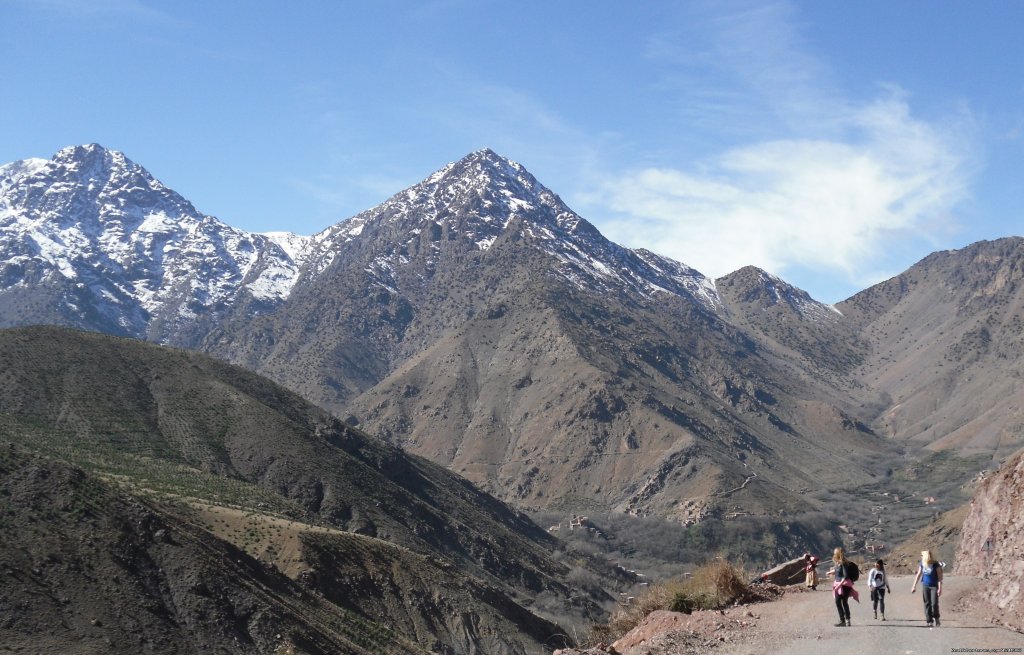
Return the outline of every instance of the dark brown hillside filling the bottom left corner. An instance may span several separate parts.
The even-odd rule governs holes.
[[[0,445],[0,644],[12,652],[423,653],[159,508]]]

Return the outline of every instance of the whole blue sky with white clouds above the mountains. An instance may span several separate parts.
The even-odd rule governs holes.
[[[1024,233],[1024,2],[0,0],[0,162],[99,142],[310,234],[480,147],[837,302]]]

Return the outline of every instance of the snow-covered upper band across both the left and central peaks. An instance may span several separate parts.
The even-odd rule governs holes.
[[[553,258],[543,274],[581,290],[723,306],[713,279],[609,242],[486,148],[312,236],[231,227],[94,143],[0,167],[0,295],[45,282],[58,290],[65,322],[90,313],[100,329],[161,342],[198,316],[269,311],[339,259],[362,261],[371,280],[399,293],[403,267],[416,259],[430,274],[453,242],[477,253],[526,244]]]

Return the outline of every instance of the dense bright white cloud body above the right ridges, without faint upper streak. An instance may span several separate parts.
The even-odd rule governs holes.
[[[856,138],[787,139],[723,152],[696,171],[607,180],[602,229],[719,276],[754,264],[857,278],[894,239],[927,236],[967,192],[955,142],[887,97],[851,113]]]

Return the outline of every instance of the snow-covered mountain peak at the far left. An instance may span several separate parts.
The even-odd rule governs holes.
[[[297,273],[278,242],[201,214],[123,152],[91,143],[0,168],[0,291],[46,280],[69,322],[159,339],[152,325],[243,291],[278,302]]]

